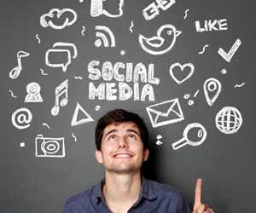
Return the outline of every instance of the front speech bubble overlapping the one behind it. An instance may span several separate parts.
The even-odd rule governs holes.
[[[64,57],[63,57],[64,56]],[[49,58],[64,58],[61,63],[49,61]],[[61,67],[63,72],[67,71],[67,66],[71,64],[71,53],[68,49],[48,49],[45,53],[45,64],[50,67]]]

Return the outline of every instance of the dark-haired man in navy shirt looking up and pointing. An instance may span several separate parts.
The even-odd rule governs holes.
[[[116,109],[96,125],[96,160],[105,178],[67,200],[63,213],[191,213],[183,195],[173,187],[142,177],[148,159],[148,130],[137,114]],[[201,179],[195,187],[193,213],[213,213],[201,204]]]

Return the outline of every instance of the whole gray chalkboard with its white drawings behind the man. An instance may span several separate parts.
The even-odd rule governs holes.
[[[102,179],[94,130],[148,124],[144,176],[215,212],[254,210],[253,1],[1,3],[1,213],[61,212]],[[182,140],[183,139],[183,140]]]

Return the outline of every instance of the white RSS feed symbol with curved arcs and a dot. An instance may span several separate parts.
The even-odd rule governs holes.
[[[96,39],[94,44],[97,48],[101,47],[102,44],[104,47],[115,47],[115,39],[113,36],[113,32],[108,28],[108,26],[96,26],[95,29],[97,31],[96,37],[98,37],[98,39]],[[107,35],[109,38],[107,37]]]

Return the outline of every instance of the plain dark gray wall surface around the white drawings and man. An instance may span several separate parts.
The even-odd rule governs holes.
[[[110,2],[110,1],[108,1]],[[96,122],[71,127],[70,122],[76,102],[96,120],[104,112],[121,107],[138,112],[150,130],[151,156],[145,166],[145,176],[179,188],[189,200],[194,201],[195,180],[203,178],[203,202],[210,204],[216,213],[252,212],[255,206],[255,126],[254,101],[254,48],[255,12],[253,1],[177,1],[170,9],[160,11],[154,20],[144,20],[142,10],[154,0],[126,0],[124,14],[117,19],[106,16],[90,17],[90,1],[84,3],[67,0],[17,1],[1,3],[1,130],[0,148],[0,212],[45,213],[61,212],[62,205],[74,193],[100,181],[102,166],[94,157],[94,128]],[[112,3],[111,3],[112,4]],[[114,3],[113,3],[114,4]],[[112,5],[109,9],[112,9]],[[78,20],[73,26],[57,31],[40,26],[39,18],[49,9],[74,9]],[[184,11],[190,9],[183,20]],[[112,10],[115,12],[114,10]],[[195,32],[195,20],[228,20],[228,31]],[[134,21],[134,32],[129,28]],[[139,46],[137,37],[155,35],[164,24],[172,24],[183,33],[177,38],[173,49],[165,55],[148,55]],[[94,46],[95,26],[108,26],[116,39],[115,48]],[[86,27],[85,36],[81,35]],[[38,33],[41,43],[35,35]],[[217,51],[228,51],[236,38],[241,47],[228,63]],[[61,68],[45,65],[44,54],[55,42],[71,42],[78,47],[79,56],[68,66]],[[203,55],[198,52],[208,43]],[[120,55],[124,49],[125,55]],[[16,52],[24,50],[31,55],[22,59],[23,71],[16,79],[9,78],[9,71],[16,66]],[[149,101],[97,101],[88,98],[87,65],[90,60],[154,63],[155,76],[160,85],[154,86],[155,102]],[[169,75],[169,66],[175,62],[192,62],[195,73],[186,82],[177,85]],[[48,72],[43,76],[43,68]],[[223,75],[220,71],[227,70]],[[77,80],[74,76],[81,76]],[[218,78],[223,90],[212,107],[207,105],[203,83],[207,78]],[[69,79],[69,102],[53,117],[50,109],[55,101],[55,87]],[[25,103],[26,84],[41,85],[43,103]],[[103,81],[102,81],[103,82]],[[235,88],[236,83],[246,83]],[[9,93],[17,95],[14,99]],[[189,106],[183,95],[194,95],[195,104]],[[176,124],[152,128],[145,107],[161,101],[179,98],[185,119]],[[101,106],[96,111],[95,107]],[[214,119],[223,107],[237,107],[243,118],[241,129],[233,135],[217,130]],[[32,124],[26,130],[16,129],[11,115],[16,109],[27,107],[33,114]],[[207,129],[207,140],[200,147],[183,147],[172,150],[172,142],[182,137],[187,124],[198,122]],[[50,126],[48,130],[42,123]],[[77,136],[75,142],[72,133]],[[65,137],[66,158],[36,158],[35,137]],[[155,145],[156,136],[162,135],[163,145]],[[26,147],[20,147],[25,142]]]

